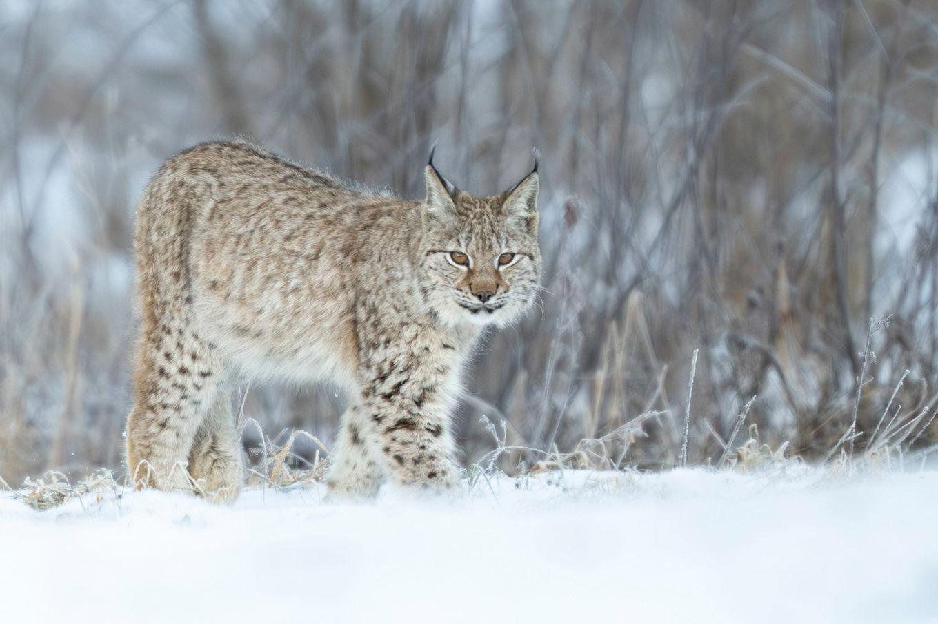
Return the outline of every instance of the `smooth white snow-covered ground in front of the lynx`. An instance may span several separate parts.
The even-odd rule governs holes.
[[[0,621],[938,621],[938,472],[120,494],[35,512],[0,493]]]

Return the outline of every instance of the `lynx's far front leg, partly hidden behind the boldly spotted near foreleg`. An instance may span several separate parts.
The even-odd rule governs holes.
[[[385,470],[366,436],[361,409],[346,409],[329,468],[329,498],[372,498],[384,483]]]

